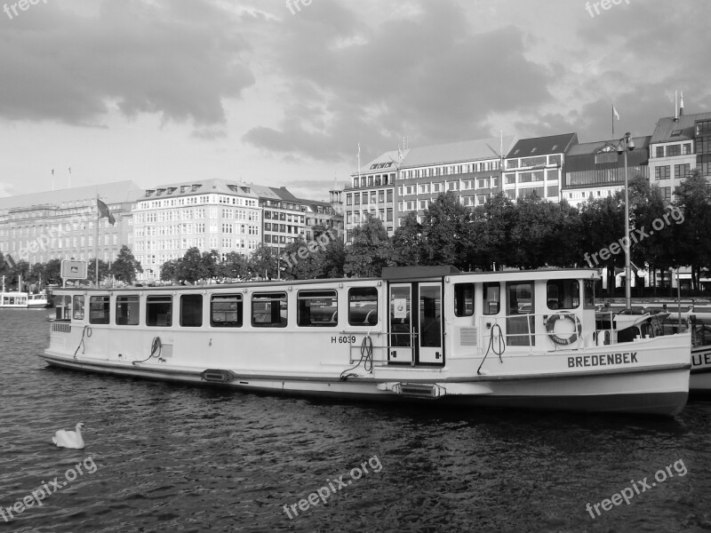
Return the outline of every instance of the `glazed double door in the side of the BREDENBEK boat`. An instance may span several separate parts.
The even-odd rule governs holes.
[[[443,365],[442,284],[390,284],[390,363]],[[416,302],[413,306],[412,302]]]

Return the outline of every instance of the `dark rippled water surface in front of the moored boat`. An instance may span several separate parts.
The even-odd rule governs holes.
[[[0,505],[53,490],[0,531],[711,530],[709,402],[673,419],[448,412],[112,378],[36,357],[45,315],[0,310]],[[79,421],[86,449],[52,446]]]

